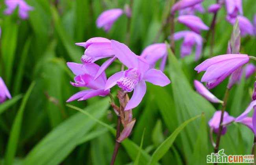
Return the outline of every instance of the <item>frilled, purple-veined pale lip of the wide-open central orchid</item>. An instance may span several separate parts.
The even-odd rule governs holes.
[[[139,82],[140,74],[136,69],[128,69],[124,72],[124,77],[117,81],[117,85],[122,88],[122,90],[127,92],[132,92],[134,87]]]

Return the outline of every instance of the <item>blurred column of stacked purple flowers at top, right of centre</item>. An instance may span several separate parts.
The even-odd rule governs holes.
[[[209,27],[198,16],[195,16],[196,11],[204,13],[202,6],[203,0],[180,0],[173,5],[171,14],[179,11],[177,18],[178,22],[186,25],[191,31],[179,31],[174,33],[174,40],[184,38],[180,52],[181,57],[191,55],[192,48],[195,45],[195,61],[200,59],[202,52],[203,39],[200,35],[201,30],[209,30]]]

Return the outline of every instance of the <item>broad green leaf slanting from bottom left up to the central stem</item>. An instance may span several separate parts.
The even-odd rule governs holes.
[[[106,114],[108,99],[102,99],[97,104],[88,106],[84,112],[99,119]],[[96,124],[91,118],[76,113],[63,121],[45,136],[26,156],[26,165],[58,165],[78,145],[82,137]]]

